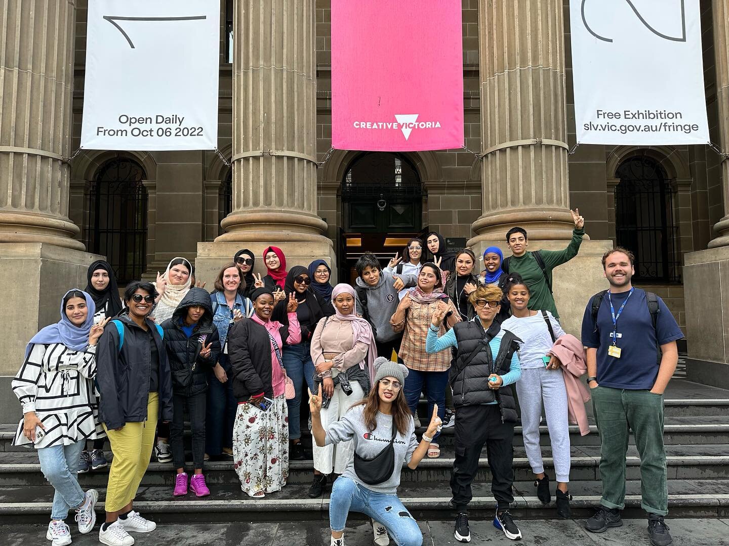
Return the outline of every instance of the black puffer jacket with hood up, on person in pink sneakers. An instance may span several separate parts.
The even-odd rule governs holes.
[[[189,338],[182,330],[187,310],[199,305],[205,309]],[[220,353],[218,329],[213,323],[213,306],[210,294],[202,288],[190,288],[182,298],[172,318],[162,323],[165,331],[165,347],[172,373],[172,389],[175,394],[192,396],[208,389],[207,371],[213,367]],[[200,356],[203,346],[210,345],[210,355]]]

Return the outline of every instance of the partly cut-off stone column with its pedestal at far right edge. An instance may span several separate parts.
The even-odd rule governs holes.
[[[712,1],[719,142],[729,146],[729,0]],[[729,159],[722,161],[724,211],[707,250],[685,255],[687,378],[729,389]]]

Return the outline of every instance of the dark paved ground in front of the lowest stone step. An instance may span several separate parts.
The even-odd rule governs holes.
[[[9,518],[8,518],[9,519]],[[17,526],[3,521],[0,524],[2,543],[7,546],[48,544],[45,526]],[[421,521],[426,546],[459,545],[453,539],[451,521]],[[674,519],[668,521],[674,546],[729,546],[729,520]],[[519,526],[524,539],[511,542],[491,521],[471,522],[471,545],[521,544],[534,546],[650,546],[645,520],[625,520],[618,529],[603,534],[590,534],[580,521],[526,520]],[[85,536],[71,527],[74,545],[98,545],[98,524]],[[322,522],[300,523],[219,523],[191,525],[163,525],[155,532],[136,534],[136,546],[327,546],[329,532]],[[370,546],[372,528],[364,521],[353,522],[346,534],[347,546]],[[391,542],[394,546],[394,542]]]

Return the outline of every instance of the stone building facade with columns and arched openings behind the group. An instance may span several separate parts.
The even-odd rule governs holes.
[[[568,330],[603,288],[599,256],[619,242],[639,255],[636,284],[663,296],[687,331],[690,369],[725,369],[728,162],[709,146],[574,149],[568,0],[462,0],[466,149],[404,154],[330,152],[329,0],[221,0],[218,147],[233,167],[211,151],[61,159],[80,142],[87,1],[9,0],[0,15],[14,44],[0,50],[0,273],[30,280],[34,300],[25,289],[0,296],[6,317],[23,309],[5,354],[19,357],[39,325],[57,320],[60,296],[85,285],[93,254],[108,256],[122,281],[184,256],[209,282],[235,250],[260,256],[270,243],[289,266],[327,258],[346,279],[363,250],[389,256],[426,229],[478,253],[518,223],[531,248],[563,248],[578,207],[589,240],[555,278]],[[701,0],[706,105],[722,149],[728,4]],[[719,292],[706,298],[699,279]]]

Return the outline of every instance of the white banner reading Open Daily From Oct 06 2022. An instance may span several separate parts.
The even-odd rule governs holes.
[[[217,147],[219,0],[89,2],[81,147]]]

